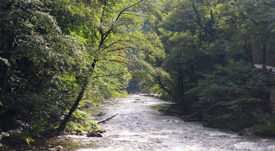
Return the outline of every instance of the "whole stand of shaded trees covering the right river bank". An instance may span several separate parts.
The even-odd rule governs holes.
[[[253,63],[273,63],[274,4],[181,0],[163,1],[160,8],[156,32],[166,58],[158,65],[167,78],[159,77],[155,90],[183,111],[201,113],[208,126],[258,124],[251,122],[254,111],[268,111],[271,88],[270,77]]]

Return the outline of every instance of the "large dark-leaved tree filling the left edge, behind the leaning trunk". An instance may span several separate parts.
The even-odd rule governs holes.
[[[83,41],[65,34],[50,13],[57,2],[0,3],[3,131],[23,127],[37,133],[56,124],[70,104],[67,93],[77,85],[72,79],[89,68]]]

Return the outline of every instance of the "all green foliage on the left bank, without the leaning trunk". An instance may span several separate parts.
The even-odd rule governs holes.
[[[86,79],[85,100],[125,96],[137,57],[164,56],[156,34],[142,31],[154,13],[149,1],[1,1],[1,131],[56,128]]]

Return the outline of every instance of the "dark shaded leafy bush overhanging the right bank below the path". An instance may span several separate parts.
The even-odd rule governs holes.
[[[257,123],[255,117],[261,116],[257,109],[265,108],[268,103],[262,97],[271,89],[269,79],[269,75],[244,61],[230,62],[225,67],[217,65],[213,74],[205,75],[194,88],[200,96],[197,106],[208,123],[234,130],[252,126]],[[262,123],[260,120],[268,117],[257,119]]]

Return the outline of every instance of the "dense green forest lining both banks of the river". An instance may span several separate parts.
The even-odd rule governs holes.
[[[86,106],[135,92],[275,135],[274,13],[271,0],[2,0],[0,137],[94,128]]]

